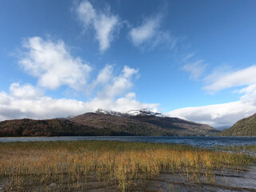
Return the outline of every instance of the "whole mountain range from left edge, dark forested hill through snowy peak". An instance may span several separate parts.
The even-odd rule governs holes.
[[[150,110],[126,113],[97,110],[69,118],[0,122],[0,137],[15,136],[100,136],[100,135],[215,135],[213,127],[180,118],[167,118]]]

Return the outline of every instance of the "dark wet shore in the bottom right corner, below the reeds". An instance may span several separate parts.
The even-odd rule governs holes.
[[[250,166],[242,172],[216,171],[215,183],[192,183],[182,174],[160,174],[150,180],[145,191],[256,191],[256,166]]]

